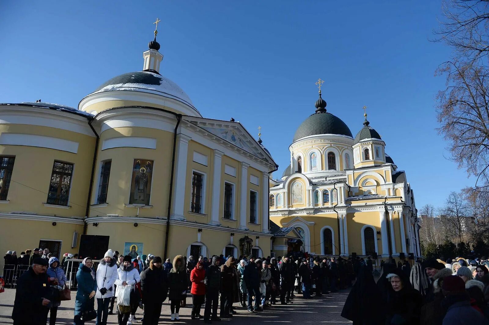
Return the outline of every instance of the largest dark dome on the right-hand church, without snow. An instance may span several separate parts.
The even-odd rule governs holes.
[[[302,122],[295,131],[294,141],[318,134],[338,134],[353,138],[352,131],[339,117],[331,113],[315,113]]]

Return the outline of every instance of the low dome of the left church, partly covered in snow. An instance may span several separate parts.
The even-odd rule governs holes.
[[[188,95],[176,83],[160,74],[150,71],[137,71],[121,74],[105,82],[93,93],[114,90],[132,90],[155,93],[176,99],[194,107]]]

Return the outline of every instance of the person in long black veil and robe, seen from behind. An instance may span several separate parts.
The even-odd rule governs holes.
[[[381,324],[384,316],[381,313],[383,308],[379,308],[380,306],[380,292],[374,276],[368,266],[360,265],[356,282],[348,294],[341,317],[353,321],[353,325]]]

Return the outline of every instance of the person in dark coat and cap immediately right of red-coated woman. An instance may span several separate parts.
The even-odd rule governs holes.
[[[221,259],[218,256],[212,257],[212,263],[205,269],[205,308],[204,323],[210,324],[213,321],[220,321],[217,316],[219,308],[219,289],[221,288]],[[212,318],[211,318],[212,310]]]

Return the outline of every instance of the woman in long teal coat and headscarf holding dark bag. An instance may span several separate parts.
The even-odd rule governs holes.
[[[95,279],[95,270],[92,267],[92,260],[88,257],[80,263],[78,272],[76,272],[76,280],[78,287],[75,298],[75,317],[73,322],[75,325],[84,325],[85,321],[81,316],[85,311],[93,310],[95,292],[97,290],[97,281]]]

